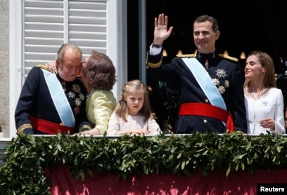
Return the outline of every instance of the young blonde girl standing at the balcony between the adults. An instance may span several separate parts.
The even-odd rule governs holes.
[[[160,126],[153,118],[144,83],[132,80],[122,87],[120,100],[110,116],[107,135],[158,135]]]

